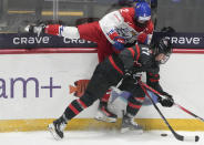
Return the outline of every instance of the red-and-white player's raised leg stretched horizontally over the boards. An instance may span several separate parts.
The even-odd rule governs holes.
[[[53,24],[47,21],[29,24],[24,28],[24,31],[37,34],[48,33],[52,35],[64,37],[68,39],[84,39],[92,42],[100,40],[101,32],[99,22],[80,24],[78,27],[69,27],[59,23]]]

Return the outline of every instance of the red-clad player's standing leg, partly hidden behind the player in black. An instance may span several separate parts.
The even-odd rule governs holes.
[[[79,27],[81,38],[85,40],[92,40],[98,43],[98,58],[99,62],[102,62],[106,56],[111,55],[114,51],[112,44],[104,37],[98,22],[91,24],[82,24]],[[100,100],[99,110],[95,118],[105,122],[115,122],[116,115],[109,111],[108,101],[111,90],[108,90],[103,97]]]

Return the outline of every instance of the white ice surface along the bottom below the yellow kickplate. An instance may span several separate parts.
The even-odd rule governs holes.
[[[161,136],[166,133],[167,136]],[[143,134],[120,134],[118,131],[67,131],[61,141],[49,132],[0,133],[0,145],[204,145],[204,132],[177,132],[200,136],[200,142],[181,142],[167,131],[146,131]]]

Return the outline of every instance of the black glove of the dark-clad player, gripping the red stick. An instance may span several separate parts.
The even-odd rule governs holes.
[[[161,96],[157,97],[157,101],[161,103],[161,105],[165,106],[165,107],[173,106],[173,104],[174,104],[173,96],[166,92],[163,92],[162,95],[163,95],[163,97],[161,97]]]

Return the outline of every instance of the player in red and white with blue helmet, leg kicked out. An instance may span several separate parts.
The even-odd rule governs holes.
[[[78,27],[60,24],[28,25],[27,31],[32,33],[44,32],[48,34],[65,37],[69,39],[84,39],[98,44],[99,62],[112,53],[119,53],[124,46],[135,42],[150,44],[153,34],[151,8],[146,2],[139,2],[132,8],[122,8],[104,15],[100,21],[84,23]],[[108,110],[110,90],[100,101],[98,120],[115,122],[116,115]]]

